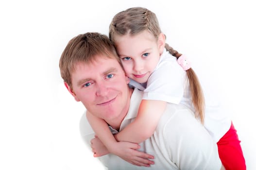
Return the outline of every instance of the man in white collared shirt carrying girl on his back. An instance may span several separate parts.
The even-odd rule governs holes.
[[[74,99],[104,119],[111,129],[121,131],[135,119],[143,92],[128,86],[129,79],[107,36],[86,33],[71,39],[62,53],[60,70]],[[85,136],[88,137],[93,136]],[[86,141],[89,145],[89,140]],[[154,165],[149,168],[132,165],[114,154],[100,160],[110,170],[220,170],[222,167],[217,144],[183,105],[168,104],[154,135],[140,146],[140,151],[154,155]]]

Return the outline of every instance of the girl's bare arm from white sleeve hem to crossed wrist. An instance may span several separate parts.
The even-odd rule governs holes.
[[[137,118],[115,135],[118,141],[141,143],[154,134],[167,102],[156,100],[142,100]]]

